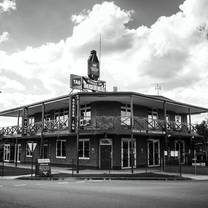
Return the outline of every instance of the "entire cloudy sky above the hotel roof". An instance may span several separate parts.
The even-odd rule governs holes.
[[[108,91],[156,94],[159,83],[208,107],[207,11],[207,0],[0,0],[0,110],[68,94],[100,35]]]

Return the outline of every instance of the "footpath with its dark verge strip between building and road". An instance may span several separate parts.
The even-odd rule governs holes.
[[[1,164],[0,164],[1,165]],[[34,167],[35,169],[35,167]],[[177,167],[176,167],[177,170]],[[4,173],[3,173],[4,171]],[[8,163],[0,166],[0,179],[40,179],[31,174],[30,164],[18,164],[17,167],[13,163]],[[3,176],[2,176],[3,175]],[[70,167],[51,167],[50,179],[65,180],[65,179],[111,179],[111,180],[207,180],[208,175],[166,172],[161,169],[153,168],[135,168],[133,173],[131,169],[124,170],[91,170],[81,169],[79,173],[72,170]],[[32,177],[31,177],[32,176]]]

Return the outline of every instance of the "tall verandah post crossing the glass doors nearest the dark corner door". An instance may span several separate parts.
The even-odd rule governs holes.
[[[134,137],[133,137],[133,126],[134,126],[134,111],[133,111],[133,96],[130,97],[131,104],[131,151],[130,151],[130,163],[131,173],[134,173]]]

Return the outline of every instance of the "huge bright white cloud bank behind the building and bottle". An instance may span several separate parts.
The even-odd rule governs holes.
[[[130,29],[133,11],[103,2],[74,14],[73,33],[65,40],[10,55],[0,51],[0,75],[14,89],[0,80],[10,96],[1,95],[7,100],[4,106],[68,93],[70,73],[87,74],[89,51],[99,51],[101,35],[101,79],[108,90],[116,85],[119,90],[154,94],[154,84],[161,83],[164,96],[207,107],[208,2],[185,0],[179,8],[151,27]]]

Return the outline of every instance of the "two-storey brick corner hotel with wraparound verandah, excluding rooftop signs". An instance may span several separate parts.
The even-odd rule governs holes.
[[[191,164],[199,135],[191,115],[208,109],[134,92],[79,92],[0,112],[17,125],[0,129],[6,162],[100,169]],[[132,160],[131,160],[132,159]],[[132,162],[131,162],[132,161]]]

